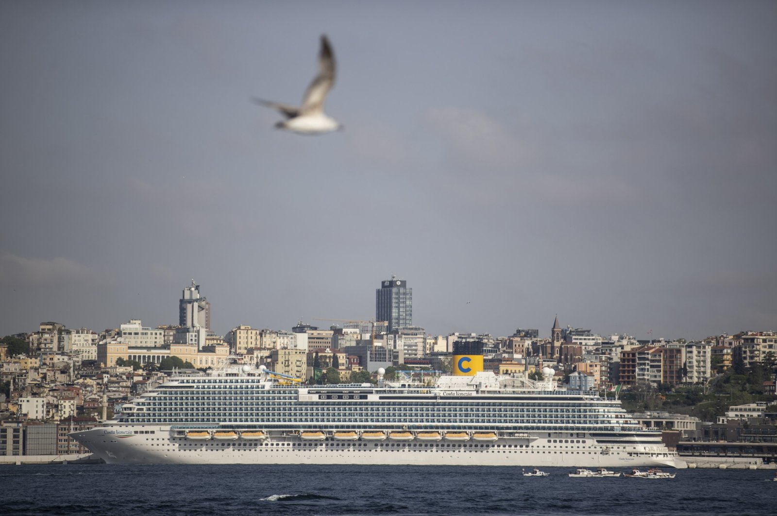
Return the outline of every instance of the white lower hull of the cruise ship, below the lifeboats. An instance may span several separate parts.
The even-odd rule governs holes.
[[[144,427],[153,434],[134,434],[137,427],[99,427],[71,434],[109,464],[364,464],[364,465],[503,465],[570,466],[586,468],[685,468],[685,462],[664,451],[645,447],[604,450],[535,444],[518,448],[526,439],[500,438],[489,443],[445,441],[304,441],[297,436],[264,440],[198,441],[172,437],[170,427]],[[641,455],[629,455],[640,453]]]

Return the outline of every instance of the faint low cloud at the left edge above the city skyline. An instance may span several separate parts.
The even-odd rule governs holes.
[[[102,271],[68,258],[37,258],[0,253],[0,284],[10,287],[54,286],[73,283],[100,283]]]

